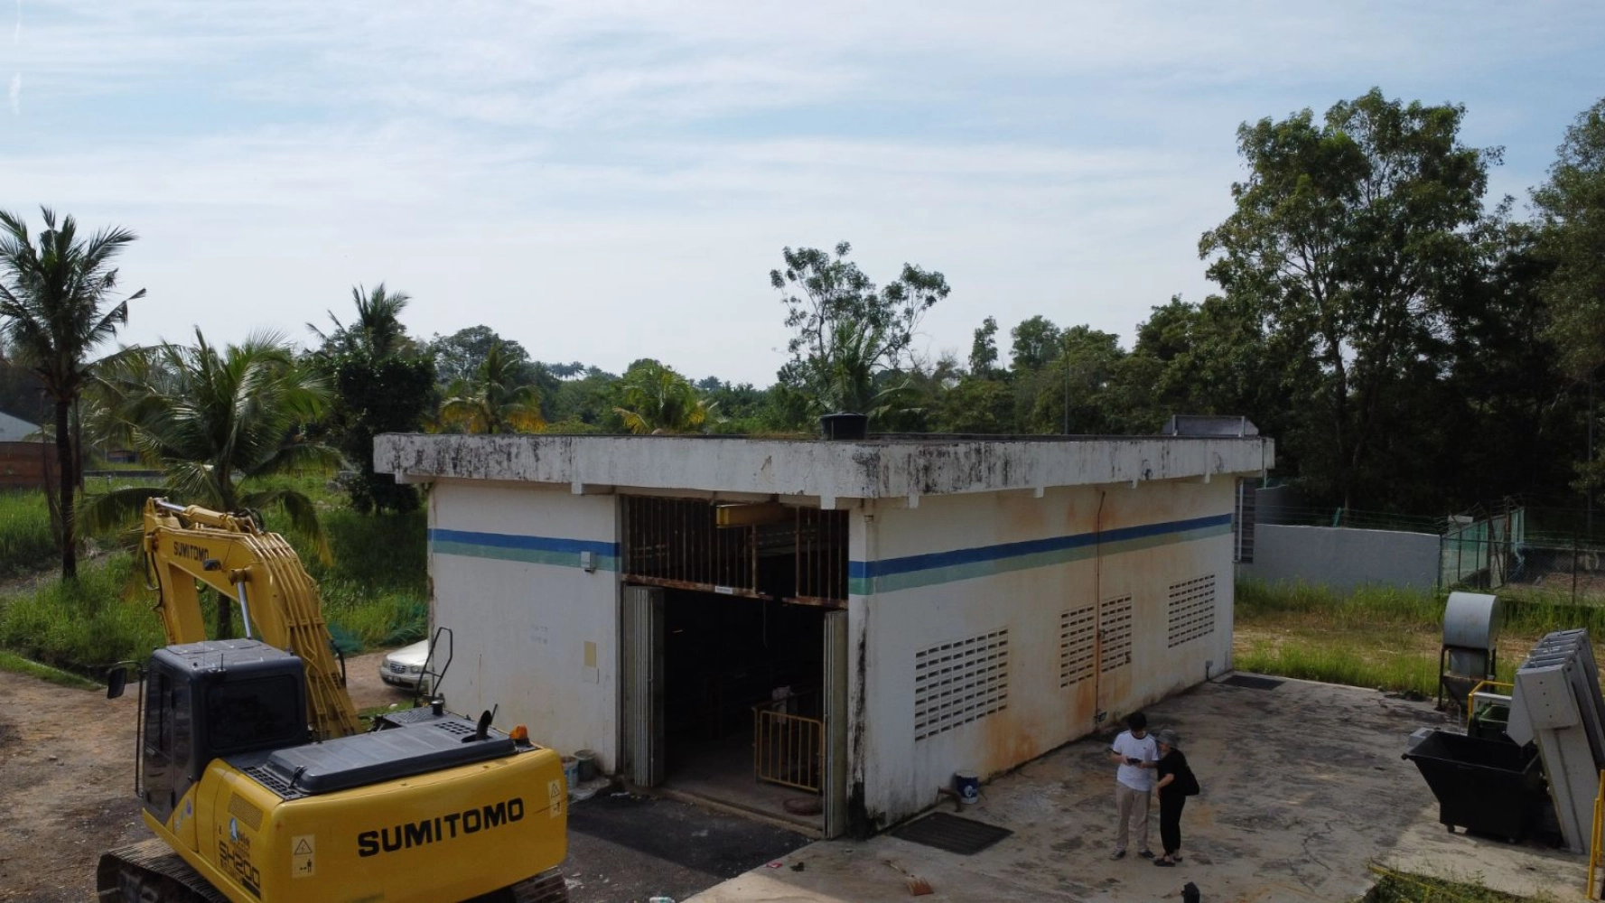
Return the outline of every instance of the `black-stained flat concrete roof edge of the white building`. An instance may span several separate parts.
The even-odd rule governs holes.
[[[1138,484],[1262,475],[1266,436],[454,436],[390,433],[374,470],[398,480],[498,480],[820,499]]]

